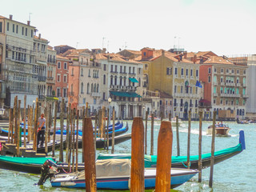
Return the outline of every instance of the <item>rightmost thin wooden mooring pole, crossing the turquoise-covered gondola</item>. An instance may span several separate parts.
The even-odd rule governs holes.
[[[214,178],[214,150],[215,150],[216,114],[217,114],[217,111],[214,111],[213,132],[212,132],[212,138],[211,138],[211,157],[210,157],[210,179],[209,179],[209,186],[210,187],[213,187],[213,178]]]

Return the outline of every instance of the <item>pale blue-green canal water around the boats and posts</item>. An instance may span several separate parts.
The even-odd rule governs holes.
[[[132,121],[128,121],[129,128],[132,126]],[[206,134],[206,129],[211,122],[202,123],[202,153],[210,153],[211,136]],[[245,131],[246,150],[241,154],[227,159],[214,165],[214,191],[255,191],[256,190],[256,124],[241,125],[236,122],[226,122],[231,128],[230,137],[217,137],[215,139],[215,151],[226,149],[231,146],[236,146],[239,140],[239,130]],[[179,127],[180,138],[180,152],[181,155],[186,155],[187,147],[187,125],[188,122],[182,122]],[[190,154],[198,154],[198,122],[191,123],[191,138],[190,138]],[[150,122],[148,123],[148,151],[150,154]],[[157,141],[160,122],[154,123],[154,154],[157,154]],[[129,132],[131,129],[129,130]],[[176,127],[173,127],[173,155],[177,154],[176,145]],[[126,141],[115,146],[115,153],[130,153],[131,141]],[[82,152],[82,150],[80,150]],[[97,150],[99,153],[110,153],[106,150]],[[80,153],[81,154],[81,153]],[[80,155],[81,158],[81,155]],[[0,191],[82,191],[71,190],[65,188],[53,188],[50,186],[49,180],[44,186],[36,186],[34,183],[38,182],[39,175],[26,174],[11,170],[0,169]],[[212,191],[209,187],[210,168],[202,170],[202,182],[198,182],[198,174],[194,176],[189,182],[182,186],[178,186],[172,191]],[[98,190],[106,191],[106,190]],[[152,190],[149,190],[152,191]]]

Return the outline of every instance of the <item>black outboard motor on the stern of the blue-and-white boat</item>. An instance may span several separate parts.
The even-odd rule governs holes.
[[[43,185],[46,182],[46,179],[53,177],[54,174],[58,174],[58,166],[55,162],[47,159],[42,165],[41,178],[39,179],[38,185]]]

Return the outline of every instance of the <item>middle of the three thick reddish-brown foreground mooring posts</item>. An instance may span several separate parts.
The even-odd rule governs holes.
[[[144,126],[142,117],[136,117],[131,130],[130,191],[144,188]]]

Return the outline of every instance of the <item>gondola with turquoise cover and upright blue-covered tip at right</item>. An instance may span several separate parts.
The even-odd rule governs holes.
[[[218,150],[214,153],[214,164],[223,162],[228,158],[232,158],[236,154],[240,154],[242,150],[246,149],[246,142],[244,138],[244,131],[239,132],[239,143],[237,146],[226,148],[225,150]],[[210,166],[211,153],[202,154],[202,168]],[[130,158],[130,154],[99,154],[98,159],[110,159],[110,158]],[[154,167],[157,163],[156,155],[145,155],[145,167]],[[186,156],[173,156],[171,158],[171,167],[186,168]],[[198,155],[190,156],[190,169],[198,169]]]

